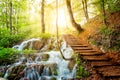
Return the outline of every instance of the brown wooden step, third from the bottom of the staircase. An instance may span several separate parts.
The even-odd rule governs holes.
[[[108,58],[104,56],[83,56],[84,60],[89,60],[89,61],[105,61],[108,60]]]

